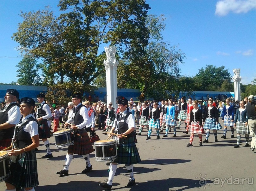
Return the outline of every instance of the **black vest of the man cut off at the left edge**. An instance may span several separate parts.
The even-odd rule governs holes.
[[[8,107],[6,108],[5,111],[0,112],[0,124],[3,124],[8,121],[8,119],[9,119],[8,111],[15,105],[19,107],[19,105],[17,103],[10,103],[10,105],[8,105]],[[13,125],[13,127],[11,127],[11,128],[0,130],[0,140],[11,139],[14,134],[14,128],[15,128],[15,125]]]

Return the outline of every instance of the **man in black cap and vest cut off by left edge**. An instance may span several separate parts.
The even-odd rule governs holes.
[[[4,102],[6,105],[0,111],[0,151],[11,145],[14,128],[19,123],[21,114],[16,101],[19,93],[15,89],[6,90]]]

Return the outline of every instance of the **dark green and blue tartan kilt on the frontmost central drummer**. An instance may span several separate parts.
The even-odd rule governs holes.
[[[141,158],[138,149],[135,145],[134,137],[129,137],[117,146],[117,158],[114,163],[125,164],[127,166],[131,164],[137,164],[141,162]]]

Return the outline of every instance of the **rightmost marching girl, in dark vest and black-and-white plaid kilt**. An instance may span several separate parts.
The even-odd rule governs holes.
[[[235,122],[234,122],[234,127],[236,127],[236,146],[234,148],[239,147],[240,139],[241,139],[241,134],[245,135],[245,146],[249,146],[249,126],[248,123],[246,122],[246,108],[245,108],[245,101],[240,101],[240,108],[236,110],[236,116],[235,116]]]

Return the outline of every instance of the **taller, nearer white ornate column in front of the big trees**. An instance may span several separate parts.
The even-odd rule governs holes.
[[[117,97],[117,75],[116,69],[118,66],[118,61],[115,59],[116,47],[106,46],[105,52],[107,55],[107,60],[104,60],[103,64],[106,69],[106,84],[107,84],[107,104],[112,102],[113,108],[117,109],[116,97]]]

